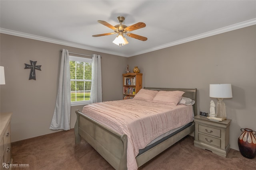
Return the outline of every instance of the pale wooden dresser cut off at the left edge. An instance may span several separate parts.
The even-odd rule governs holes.
[[[0,134],[1,134],[1,145],[0,145],[0,170],[10,169],[9,164],[12,164],[11,155],[11,137],[10,137],[10,121],[12,113],[1,113],[0,115]],[[6,164],[6,168],[3,166]]]

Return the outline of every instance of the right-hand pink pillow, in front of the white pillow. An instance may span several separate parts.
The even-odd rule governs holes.
[[[165,103],[176,106],[185,92],[182,91],[159,91],[152,102]]]

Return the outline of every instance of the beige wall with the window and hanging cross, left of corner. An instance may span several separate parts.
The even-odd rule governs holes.
[[[58,88],[61,49],[70,52],[102,56],[103,100],[122,99],[122,73],[128,58],[67,47],[33,39],[0,34],[0,65],[4,66],[6,84],[0,86],[0,111],[13,112],[12,142],[56,131],[50,130]],[[42,65],[36,70],[36,80],[28,80],[30,70],[24,69],[30,60]],[[71,128],[76,121],[76,109],[71,108]]]

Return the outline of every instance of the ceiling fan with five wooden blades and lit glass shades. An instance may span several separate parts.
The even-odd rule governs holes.
[[[138,23],[135,23],[134,25],[131,25],[131,26],[127,27],[126,25],[122,24],[122,22],[124,22],[124,20],[125,20],[125,18],[123,16],[119,16],[119,17],[117,17],[117,19],[118,19],[120,24],[115,25],[115,26],[111,25],[110,23],[107,23],[106,21],[98,20],[98,23],[101,23],[101,24],[113,29],[114,32],[113,33],[104,33],[104,34],[92,35],[92,37],[100,37],[100,36],[104,36],[104,35],[118,34],[116,39],[114,39],[113,43],[115,43],[116,45],[119,45],[120,47],[122,47],[122,45],[128,44],[128,41],[124,37],[124,34],[126,34],[128,37],[132,37],[132,38],[135,38],[135,39],[138,39],[138,40],[141,40],[141,41],[146,41],[148,39],[147,37],[142,37],[140,35],[136,35],[136,34],[133,34],[133,33],[128,33],[130,31],[146,27],[145,23],[138,22]]]

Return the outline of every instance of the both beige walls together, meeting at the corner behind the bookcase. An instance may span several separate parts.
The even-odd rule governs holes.
[[[197,88],[198,111],[209,112],[209,84],[231,83],[233,98],[224,100],[230,125],[230,145],[238,150],[240,128],[256,130],[256,25],[134,56],[120,57],[22,37],[1,34],[1,112],[13,111],[12,141],[52,133],[49,129],[57,93],[60,49],[102,56],[103,100],[122,99],[122,73],[138,66],[143,86]],[[42,65],[36,81],[28,80],[29,60]],[[71,108],[71,127],[74,111]]]

